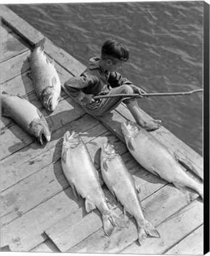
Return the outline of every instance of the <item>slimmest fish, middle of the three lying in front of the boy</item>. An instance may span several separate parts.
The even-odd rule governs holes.
[[[101,174],[106,186],[124,207],[124,216],[128,212],[136,220],[139,244],[143,244],[147,235],[160,238],[157,229],[143,215],[141,201],[138,196],[141,190],[140,185],[135,182],[130,172],[128,172],[124,161],[114,146],[107,142],[104,143],[101,149]]]

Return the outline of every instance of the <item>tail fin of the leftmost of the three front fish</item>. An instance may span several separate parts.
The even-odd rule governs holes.
[[[124,228],[127,225],[125,220],[118,217],[112,210],[110,210],[108,214],[102,215],[102,223],[107,236],[111,235],[115,227]]]

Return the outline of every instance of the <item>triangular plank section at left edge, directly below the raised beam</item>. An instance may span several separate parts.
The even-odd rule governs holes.
[[[1,62],[28,50],[27,43],[20,36],[9,31],[11,28],[1,23]]]

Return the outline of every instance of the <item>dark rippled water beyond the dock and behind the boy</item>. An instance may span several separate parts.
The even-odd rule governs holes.
[[[202,88],[203,2],[8,5],[84,65],[108,38],[130,48],[121,73],[147,92]],[[139,100],[154,119],[202,155],[201,93]]]

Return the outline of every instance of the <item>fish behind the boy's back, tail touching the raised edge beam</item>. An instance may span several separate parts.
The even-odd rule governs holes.
[[[45,41],[46,37],[35,44],[28,60],[35,92],[44,107],[51,113],[59,104],[61,84],[54,60],[50,62],[44,54]]]

